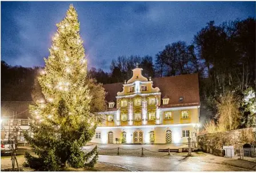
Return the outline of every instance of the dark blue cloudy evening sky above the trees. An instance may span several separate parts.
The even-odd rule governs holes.
[[[151,55],[168,43],[191,43],[209,21],[255,17],[255,2],[1,2],[1,59],[44,66],[56,23],[78,11],[89,68],[109,71],[119,55]]]

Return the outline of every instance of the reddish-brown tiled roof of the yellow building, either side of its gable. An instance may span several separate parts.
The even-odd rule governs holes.
[[[161,92],[160,107],[199,106],[199,82],[198,74],[178,75],[174,77],[153,78],[153,87],[159,87]],[[123,83],[111,83],[103,85],[107,92],[106,100],[117,102],[117,92],[123,90]],[[169,104],[162,104],[162,98],[168,96]],[[179,102],[179,97],[183,101]],[[115,104],[116,107],[116,104]]]

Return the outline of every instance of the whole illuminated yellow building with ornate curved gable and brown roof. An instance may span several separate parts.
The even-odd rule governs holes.
[[[91,142],[186,143],[199,126],[198,74],[147,79],[133,70],[125,83],[103,85],[108,109]]]

